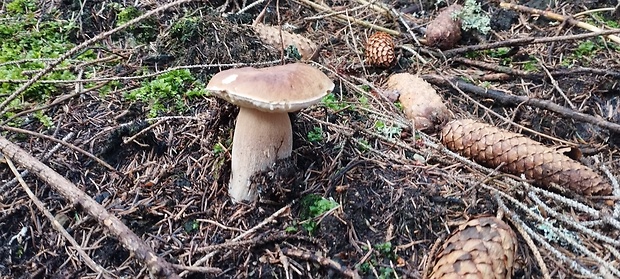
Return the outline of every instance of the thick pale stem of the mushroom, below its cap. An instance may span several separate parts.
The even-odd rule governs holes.
[[[254,201],[252,175],[271,167],[278,159],[291,156],[293,131],[288,113],[269,113],[241,107],[233,135],[228,194],[233,202]]]

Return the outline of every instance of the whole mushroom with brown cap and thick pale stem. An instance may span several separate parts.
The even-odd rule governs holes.
[[[334,83],[312,66],[294,63],[221,71],[206,89],[239,106],[228,194],[240,202],[258,196],[250,187],[252,175],[291,156],[293,130],[288,113],[319,102],[334,89]]]

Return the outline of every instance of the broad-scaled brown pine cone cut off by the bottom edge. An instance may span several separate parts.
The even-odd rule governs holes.
[[[506,223],[481,217],[461,225],[439,250],[430,279],[509,279],[517,237]]]

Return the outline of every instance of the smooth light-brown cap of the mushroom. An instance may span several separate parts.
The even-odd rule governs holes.
[[[265,112],[293,112],[313,104],[334,83],[312,66],[294,63],[269,68],[230,69],[214,75],[207,90],[240,107]]]

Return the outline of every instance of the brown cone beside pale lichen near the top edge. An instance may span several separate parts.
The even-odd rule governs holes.
[[[426,27],[426,44],[440,49],[453,48],[461,40],[461,20],[454,18],[463,6],[454,4],[439,13]]]

